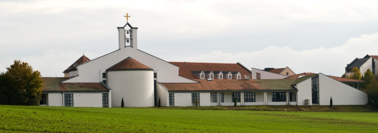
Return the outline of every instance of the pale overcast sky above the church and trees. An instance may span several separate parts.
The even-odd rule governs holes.
[[[0,0],[0,72],[16,59],[62,77],[117,50],[126,13],[138,49],[165,61],[341,76],[378,55],[377,0]]]

